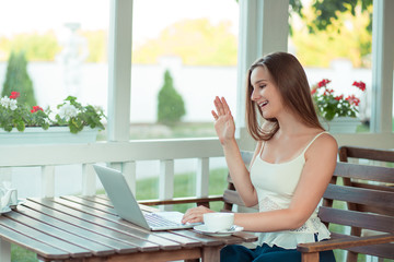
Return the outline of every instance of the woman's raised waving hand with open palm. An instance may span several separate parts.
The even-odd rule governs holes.
[[[213,104],[217,109],[217,111],[211,111],[215,118],[215,130],[218,134],[220,143],[224,145],[227,142],[234,140],[235,138],[234,119],[224,97],[220,99],[217,96]]]

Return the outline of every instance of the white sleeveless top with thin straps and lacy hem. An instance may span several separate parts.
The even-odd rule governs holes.
[[[318,133],[298,157],[286,163],[271,164],[264,162],[260,157],[264,145],[262,146],[259,154],[251,166],[251,180],[257,192],[259,212],[289,207],[305,164],[304,154],[315,139],[323,133],[327,132]],[[296,249],[298,243],[314,242],[315,235],[317,235],[318,241],[329,238],[331,235],[326,226],[317,217],[317,209],[300,228],[260,233],[258,245],[267,243],[270,247],[276,245],[285,249]]]

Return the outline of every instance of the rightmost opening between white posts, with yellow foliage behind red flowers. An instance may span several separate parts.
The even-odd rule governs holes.
[[[361,121],[357,132],[368,132],[372,96],[372,1],[362,7],[359,2],[352,10],[355,15],[350,5],[344,4],[347,11],[339,12],[338,7],[327,1],[302,3],[302,17],[292,12],[290,19],[289,51],[304,66],[311,87],[328,80],[326,92],[317,88],[320,95],[333,92],[334,102],[349,100]],[[360,82],[366,84],[364,91]]]

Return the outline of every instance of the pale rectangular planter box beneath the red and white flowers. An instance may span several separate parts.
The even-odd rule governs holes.
[[[59,144],[59,143],[93,143],[96,141],[99,129],[84,127],[77,134],[71,133],[69,127],[26,128],[23,132],[13,129],[11,132],[0,130],[0,145],[5,144]]]

